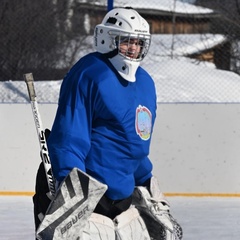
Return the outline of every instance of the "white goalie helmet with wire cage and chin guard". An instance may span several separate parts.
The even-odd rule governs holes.
[[[114,68],[130,82],[136,81],[135,73],[147,55],[150,42],[149,24],[131,8],[109,11],[94,31],[96,51],[108,54]],[[122,50],[124,45],[125,51]]]

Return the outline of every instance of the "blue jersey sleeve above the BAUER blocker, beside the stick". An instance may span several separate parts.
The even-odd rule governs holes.
[[[74,167],[86,171],[85,159],[91,146],[92,96],[91,81],[83,75],[73,74],[64,79],[48,139],[53,174],[60,182]]]

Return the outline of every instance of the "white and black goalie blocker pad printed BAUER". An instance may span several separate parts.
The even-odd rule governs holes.
[[[38,239],[78,239],[107,186],[74,168],[37,229]]]

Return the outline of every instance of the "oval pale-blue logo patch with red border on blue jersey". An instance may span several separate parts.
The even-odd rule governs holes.
[[[152,114],[147,107],[139,105],[136,108],[135,129],[142,140],[148,140],[152,129]]]

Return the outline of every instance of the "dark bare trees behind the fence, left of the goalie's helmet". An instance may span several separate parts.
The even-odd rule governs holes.
[[[76,53],[86,38],[79,31],[73,44],[73,7],[74,0],[0,1],[0,80],[19,80],[28,71],[35,79],[62,78],[75,60],[69,50]]]

